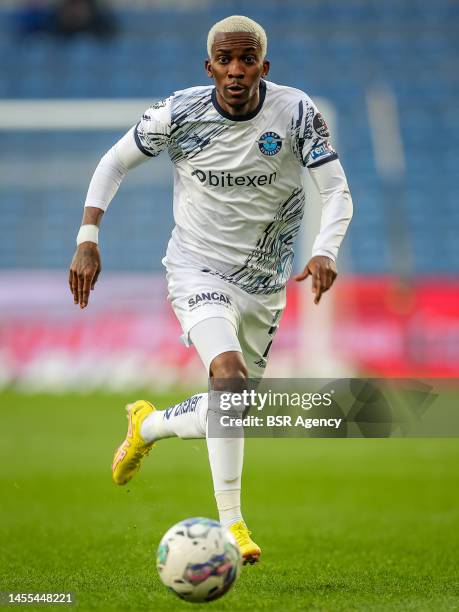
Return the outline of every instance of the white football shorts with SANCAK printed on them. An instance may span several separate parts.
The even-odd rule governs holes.
[[[236,331],[249,377],[261,378],[285,308],[285,289],[252,295],[192,264],[168,264],[166,278],[168,299],[182,326],[182,342],[190,346],[190,330],[201,321],[227,319]],[[213,357],[228,350],[227,345],[219,347],[219,342],[216,338]]]

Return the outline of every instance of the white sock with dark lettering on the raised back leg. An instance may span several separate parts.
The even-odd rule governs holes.
[[[140,435],[145,442],[163,438],[205,438],[207,393],[193,395],[166,410],[155,410],[143,421]]]

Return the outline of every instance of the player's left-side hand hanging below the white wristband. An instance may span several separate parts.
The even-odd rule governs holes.
[[[102,265],[99,247],[94,242],[82,242],[78,245],[70,264],[69,285],[75,304],[86,308],[89,292],[99,278]]]

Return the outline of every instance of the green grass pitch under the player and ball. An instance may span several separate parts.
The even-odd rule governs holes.
[[[200,609],[166,591],[154,559],[173,523],[216,517],[205,442],[160,442],[116,487],[127,399],[0,394],[0,591]],[[459,610],[457,439],[247,440],[243,510],[262,561],[208,610]]]

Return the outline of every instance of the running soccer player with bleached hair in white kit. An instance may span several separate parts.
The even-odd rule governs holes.
[[[216,23],[205,69],[213,84],[177,91],[145,111],[101,159],[85,203],[70,267],[75,304],[88,305],[101,270],[99,224],[126,173],[166,149],[174,168],[174,218],[163,264],[169,300],[216,392],[260,379],[285,307],[293,242],[303,217],[307,167],[322,202],[312,258],[295,280],[312,277],[315,303],[336,278],[335,260],[352,200],[327,125],[302,91],[265,79],[267,39],[243,16]],[[230,384],[231,382],[231,384]],[[126,439],[113,479],[123,485],[163,438],[202,438],[220,522],[236,537],[244,562],[260,557],[241,514],[244,439],[212,437],[210,394],[156,410],[127,406]]]

